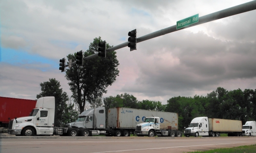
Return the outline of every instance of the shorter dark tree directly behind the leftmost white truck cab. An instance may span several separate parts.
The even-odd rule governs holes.
[[[65,113],[65,110],[72,110],[72,107],[67,108],[68,95],[66,92],[62,91],[60,82],[55,78],[49,79],[47,82],[40,83],[41,93],[36,95],[36,98],[39,99],[45,96],[54,96],[55,97],[55,118],[54,125],[60,127],[64,118],[70,118]],[[63,117],[64,116],[64,117]]]

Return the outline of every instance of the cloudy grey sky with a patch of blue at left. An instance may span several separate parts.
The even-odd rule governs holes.
[[[56,78],[72,95],[59,59],[86,51],[93,38],[110,45],[251,0],[1,0],[0,96],[36,99]],[[138,100],[206,96],[217,87],[256,89],[256,10],[176,31],[117,52],[119,77],[106,96]]]

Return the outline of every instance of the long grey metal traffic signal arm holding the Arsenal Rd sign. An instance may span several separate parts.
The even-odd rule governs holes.
[[[200,25],[200,24],[203,24],[203,23],[207,23],[207,22],[210,22],[210,21],[222,19],[224,17],[230,17],[232,15],[244,13],[244,12],[247,12],[247,11],[253,11],[255,9],[256,9],[256,0],[253,0],[251,2],[240,4],[238,6],[233,6],[231,8],[227,8],[227,9],[224,9],[224,10],[221,10],[221,11],[217,11],[217,12],[214,12],[214,13],[211,13],[211,14],[199,17],[198,23],[194,23],[192,25],[189,25],[189,26],[186,26],[186,27],[183,27],[183,28],[176,29],[176,25],[174,25],[174,26],[170,26],[168,28],[164,28],[164,29],[152,32],[150,34],[146,34],[146,35],[144,35],[142,37],[138,37],[137,38],[137,43],[143,42],[145,40],[149,40],[149,39],[152,39],[152,38],[155,38],[155,37],[159,37],[159,36],[162,36],[162,35],[165,35],[165,34],[169,34],[171,32],[182,30],[184,28],[189,28],[189,27],[192,27],[192,26],[197,26],[197,25]],[[128,43],[129,42],[124,42],[122,44],[113,46],[112,48],[108,48],[107,52],[115,51],[115,50],[118,50],[120,48],[127,47]],[[91,58],[94,58],[94,57],[98,57],[98,53],[90,55],[88,57],[84,57],[84,60],[88,60],[88,59],[91,59]],[[72,64],[76,64],[76,62],[72,62]],[[68,66],[68,65],[66,65],[66,66]]]

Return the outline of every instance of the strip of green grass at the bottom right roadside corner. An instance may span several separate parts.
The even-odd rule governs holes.
[[[256,144],[249,146],[240,146],[233,148],[221,148],[215,150],[208,151],[195,151],[189,153],[255,153],[256,152]]]

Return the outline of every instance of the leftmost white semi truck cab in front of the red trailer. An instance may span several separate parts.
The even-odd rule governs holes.
[[[61,130],[54,127],[55,98],[39,98],[35,109],[29,116],[19,117],[10,120],[8,133],[12,135],[33,136],[33,135],[52,135],[55,130]],[[62,130],[61,130],[62,131]],[[59,131],[60,134],[62,132]]]

